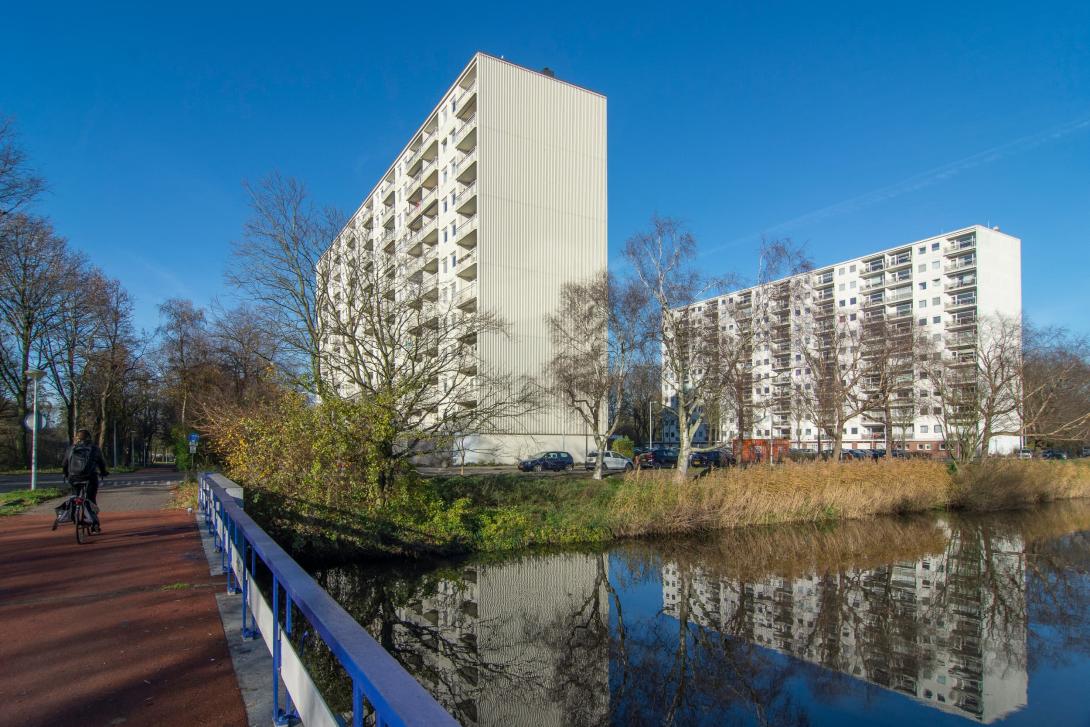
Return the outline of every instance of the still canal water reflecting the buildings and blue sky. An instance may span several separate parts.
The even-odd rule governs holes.
[[[1088,724],[1090,502],[318,571],[463,725]]]

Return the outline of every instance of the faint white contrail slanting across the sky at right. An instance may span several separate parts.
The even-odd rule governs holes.
[[[909,192],[916,192],[917,190],[922,190],[923,187],[931,186],[932,184],[938,184],[940,182],[944,182],[952,177],[956,177],[968,169],[991,163],[993,161],[997,161],[998,159],[1003,159],[1004,157],[1021,154],[1039,146],[1051,144],[1052,142],[1057,142],[1065,136],[1070,136],[1071,134],[1082,131],[1083,129],[1090,129],[1090,116],[1076,119],[1075,121],[1068,121],[1067,123],[1053,126],[1052,129],[1041,131],[1036,134],[1016,138],[1013,142],[993,146],[990,149],[978,152],[977,154],[962,159],[950,161],[949,163],[935,167],[934,169],[930,169],[919,174],[913,174],[912,177],[895,182],[894,184],[889,184],[888,186],[879,187],[877,190],[860,194],[859,196],[845,199],[844,202],[838,202],[836,204],[828,205],[827,207],[814,209],[813,211],[800,215],[794,219],[766,228],[760,233],[737,238],[730,242],[708,247],[701,253],[701,256],[711,252],[724,250],[726,247],[734,247],[742,243],[752,242],[753,239],[760,234],[777,237],[780,232],[800,227],[801,225],[813,223],[828,219],[829,217],[837,217],[847,213],[858,211],[880,202],[885,202],[886,199],[892,199]]]

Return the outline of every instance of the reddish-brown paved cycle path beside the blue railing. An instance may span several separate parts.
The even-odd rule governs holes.
[[[102,533],[0,519],[0,724],[245,725],[208,561],[170,485],[104,488]]]

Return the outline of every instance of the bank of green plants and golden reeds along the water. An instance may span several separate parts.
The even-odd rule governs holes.
[[[247,489],[247,508],[296,556],[328,562],[943,509],[1017,509],[1090,497],[1090,462],[1003,460],[956,470],[927,461],[814,462],[717,470],[680,484],[673,475],[642,472],[596,482],[573,475],[407,474],[385,502],[367,508],[330,507],[267,488]]]

